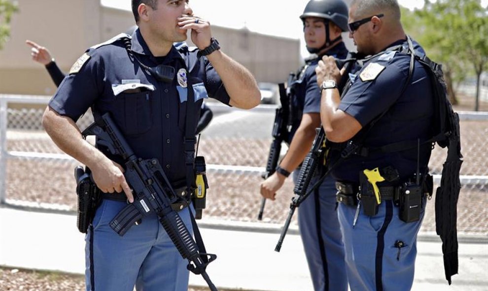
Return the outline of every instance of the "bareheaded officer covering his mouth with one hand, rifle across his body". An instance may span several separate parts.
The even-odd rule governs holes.
[[[49,102],[43,125],[108,193],[86,235],[86,290],[183,291],[189,277],[186,260],[156,215],[143,218],[124,236],[108,225],[125,200],[134,197],[118,157],[83,140],[74,122],[89,107],[94,115],[109,112],[136,156],[158,159],[172,184],[185,184],[188,98],[195,99],[189,114],[198,116],[204,98],[248,109],[259,104],[260,93],[249,71],[219,50],[209,22],[193,15],[187,1],[132,0],[132,10],[139,29],[130,38],[122,35],[88,49]],[[184,41],[188,31],[198,49],[177,49],[173,43]],[[158,74],[157,66],[170,73]],[[186,207],[179,215],[192,231],[189,211]]]

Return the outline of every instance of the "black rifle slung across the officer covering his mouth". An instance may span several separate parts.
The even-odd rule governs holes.
[[[122,236],[139,219],[156,213],[178,252],[183,259],[188,259],[188,270],[197,275],[201,274],[210,290],[217,291],[206,272],[207,265],[216,259],[216,256],[200,253],[199,246],[188,228],[171,207],[175,202],[182,202],[183,198],[175,194],[159,161],[136,157],[109,113],[105,113],[101,120],[85,129],[82,135],[96,135],[99,145],[107,147],[113,155],[118,155],[124,160],[124,177],[133,191],[134,202],[129,203],[117,214],[110,222],[110,227]]]

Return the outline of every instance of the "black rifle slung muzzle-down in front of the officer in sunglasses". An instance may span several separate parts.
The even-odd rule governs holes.
[[[341,79],[341,82],[338,84],[339,91],[342,93],[344,87],[346,86],[347,81],[349,80],[349,72],[351,71],[355,61],[357,60],[354,54],[352,54],[353,58],[348,58],[346,60],[338,60],[336,59],[336,64],[338,67],[342,67],[345,64],[346,66],[346,71],[345,75],[346,77],[343,77]],[[297,183],[295,184],[295,188],[293,189],[293,198],[291,198],[291,204],[290,204],[290,212],[288,213],[288,217],[286,218],[285,224],[283,228],[281,229],[281,234],[279,236],[278,243],[275,247],[275,251],[279,252],[281,250],[281,245],[283,244],[284,237],[286,235],[286,232],[288,231],[288,227],[290,226],[291,219],[293,217],[293,214],[295,213],[295,209],[302,204],[302,202],[316,189],[321,182],[325,179],[325,177],[330,173],[331,169],[333,166],[337,164],[337,162],[330,167],[323,175],[320,177],[320,179],[312,186],[311,189],[309,189],[310,181],[312,180],[312,177],[314,176],[315,170],[317,169],[317,165],[319,162],[324,161],[324,156],[325,156],[325,151],[323,148],[324,142],[325,142],[325,131],[323,127],[320,127],[320,129],[316,129],[317,134],[315,135],[315,140],[312,145],[312,149],[310,152],[307,154],[307,157],[305,157],[305,160],[303,161],[302,167],[300,168],[300,172],[298,174],[298,179]]]

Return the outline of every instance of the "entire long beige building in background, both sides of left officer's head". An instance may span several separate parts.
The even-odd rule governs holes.
[[[11,37],[0,51],[0,94],[52,95],[56,86],[44,66],[31,60],[31,39],[47,48],[64,72],[90,46],[125,32],[131,11],[103,7],[100,0],[22,0]],[[245,65],[259,82],[283,82],[300,65],[298,39],[212,27],[222,50]],[[191,41],[190,41],[191,44]]]

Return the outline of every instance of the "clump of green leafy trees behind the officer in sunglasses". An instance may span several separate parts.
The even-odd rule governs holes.
[[[449,95],[457,103],[453,83],[470,72],[477,79],[475,110],[479,108],[481,73],[488,68],[488,12],[480,0],[425,0],[421,9],[402,9],[405,30],[434,61],[443,65]]]

